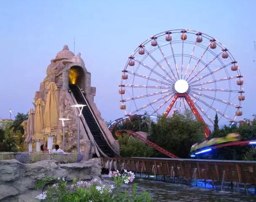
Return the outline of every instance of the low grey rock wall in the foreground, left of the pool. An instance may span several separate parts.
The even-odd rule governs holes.
[[[35,184],[45,177],[90,180],[100,177],[101,160],[90,159],[81,163],[58,164],[45,160],[22,164],[16,159],[0,160],[0,201],[34,202],[40,191]]]

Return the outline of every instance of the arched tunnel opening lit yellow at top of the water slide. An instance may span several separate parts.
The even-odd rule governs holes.
[[[79,88],[84,87],[84,70],[81,66],[72,66],[69,69],[69,84],[78,85]]]

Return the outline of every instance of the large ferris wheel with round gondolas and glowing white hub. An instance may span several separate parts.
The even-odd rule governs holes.
[[[172,115],[190,109],[206,125],[242,116],[243,76],[217,39],[190,29],[159,33],[140,44],[122,70],[120,109],[127,115]]]

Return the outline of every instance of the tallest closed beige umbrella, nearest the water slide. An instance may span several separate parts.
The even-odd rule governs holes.
[[[48,149],[51,149],[53,143],[51,133],[57,130],[59,123],[59,101],[57,85],[54,82],[50,82],[47,89],[49,92],[44,109],[44,127],[45,133],[49,134]]]

